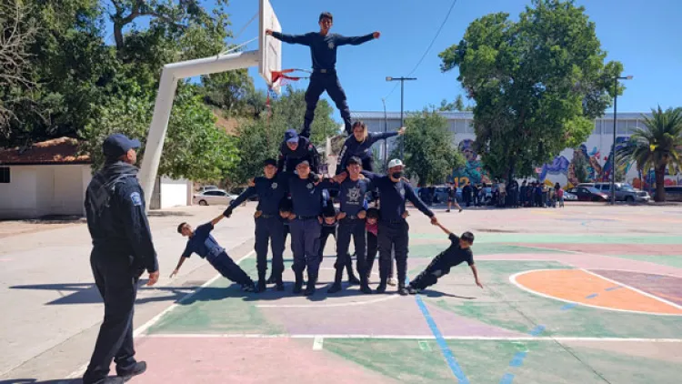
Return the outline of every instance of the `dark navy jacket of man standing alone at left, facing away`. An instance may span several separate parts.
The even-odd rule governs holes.
[[[85,215],[94,250],[129,258],[131,268],[141,274],[158,270],[158,261],[137,171],[124,162],[98,171],[85,191]]]

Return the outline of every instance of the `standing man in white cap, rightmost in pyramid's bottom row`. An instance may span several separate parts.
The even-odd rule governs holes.
[[[376,288],[376,293],[386,292],[388,273],[391,268],[391,248],[396,252],[396,268],[398,278],[398,292],[407,295],[405,279],[407,273],[407,246],[409,244],[409,226],[404,217],[406,212],[405,202],[409,200],[426,216],[431,217],[431,224],[436,224],[436,215],[431,212],[419,197],[416,197],[414,189],[406,181],[403,181],[403,162],[394,158],[388,163],[388,175],[379,176],[371,172],[362,171],[365,177],[372,180],[370,187],[378,187],[381,194],[379,207],[380,219],[377,234],[379,247],[379,276],[381,282]],[[343,181],[346,173],[336,177]]]

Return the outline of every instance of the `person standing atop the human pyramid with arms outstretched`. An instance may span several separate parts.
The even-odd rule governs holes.
[[[310,137],[310,125],[315,117],[317,101],[323,92],[334,100],[336,108],[341,113],[346,125],[346,134],[350,136],[353,130],[350,125],[350,110],[346,101],[346,92],[336,76],[336,48],[341,45],[360,45],[370,40],[379,38],[378,32],[369,35],[346,37],[338,34],[330,34],[333,17],[325,12],[320,15],[318,24],[319,32],[310,32],[306,35],[285,35],[266,29],[266,34],[289,44],[307,45],[310,47],[310,56],[313,59],[313,75],[306,90],[306,116],[301,136]]]

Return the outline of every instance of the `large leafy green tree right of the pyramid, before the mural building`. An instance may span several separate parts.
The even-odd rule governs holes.
[[[533,0],[518,22],[497,13],[476,19],[439,54],[443,72],[476,101],[474,129],[494,177],[530,176],[537,164],[577,147],[612,97],[622,65],[604,64],[595,24],[573,1]]]

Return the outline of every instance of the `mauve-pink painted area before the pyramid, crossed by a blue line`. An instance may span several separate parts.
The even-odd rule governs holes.
[[[386,295],[371,295],[371,298],[382,297]],[[435,306],[429,307],[434,308],[431,316],[445,336],[517,335],[506,329],[488,326]],[[430,308],[429,311],[431,311]],[[427,337],[433,335],[426,324],[424,315],[416,305],[414,296],[396,296],[386,301],[359,306],[260,308],[260,310],[270,321],[284,324],[286,331],[290,334],[424,335]]]

